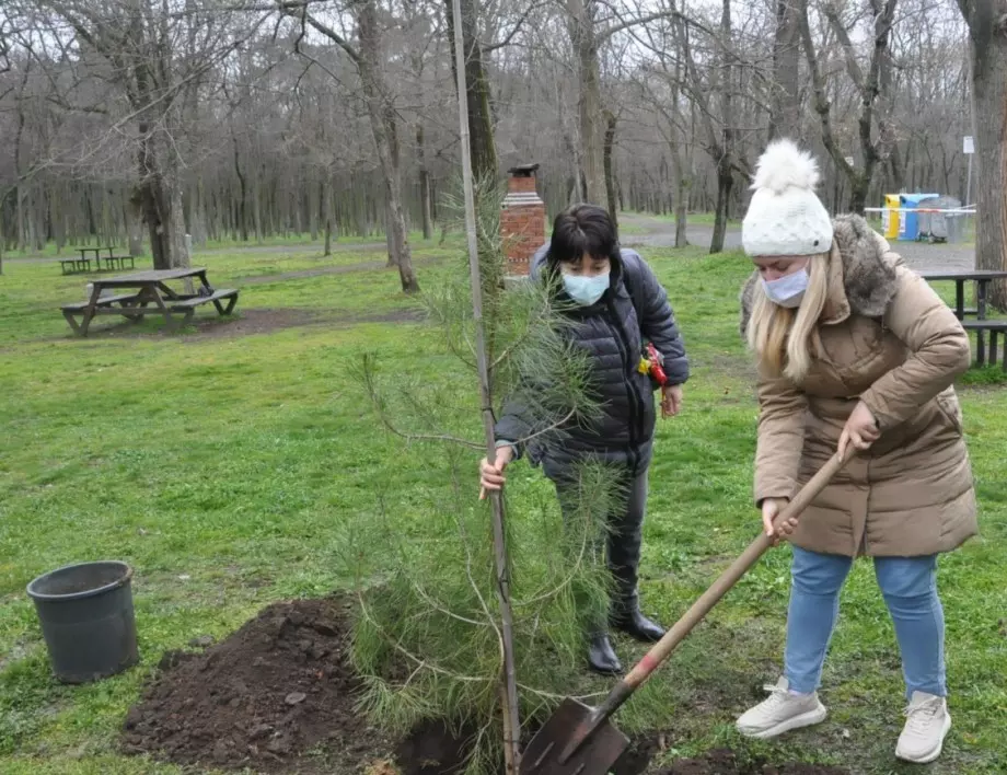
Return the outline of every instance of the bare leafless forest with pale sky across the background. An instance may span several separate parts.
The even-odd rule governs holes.
[[[715,212],[716,251],[775,136],[819,155],[838,211],[903,190],[964,201],[974,135],[980,263],[1003,266],[1004,0],[462,7],[475,172],[540,163],[549,216],[675,213],[684,240],[687,213]],[[386,235],[408,264],[408,232],[433,234],[456,187],[449,8],[8,0],[0,247],[128,244],[178,266],[186,233]]]

